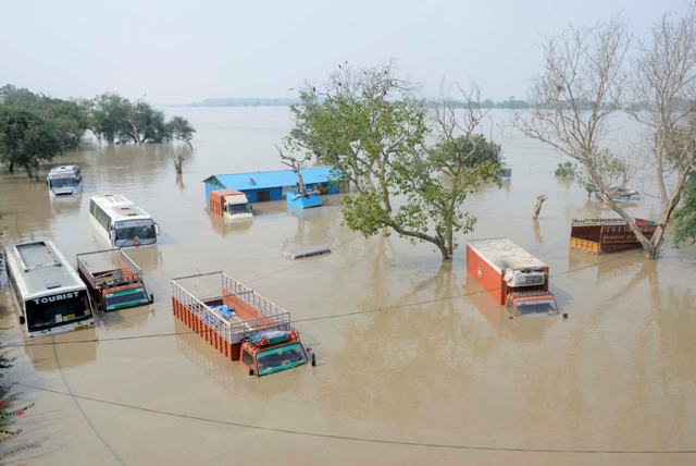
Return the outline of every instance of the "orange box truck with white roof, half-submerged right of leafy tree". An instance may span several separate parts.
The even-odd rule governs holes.
[[[467,271],[511,316],[558,314],[548,266],[507,237],[470,241]]]

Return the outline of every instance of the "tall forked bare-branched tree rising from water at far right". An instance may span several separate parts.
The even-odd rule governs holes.
[[[594,28],[571,27],[549,40],[544,47],[544,71],[532,85],[532,109],[518,115],[518,123],[527,136],[580,162],[586,184],[626,221],[649,258],[658,257],[664,231],[696,158],[687,144],[696,130],[686,118],[693,111],[691,107],[680,111],[678,105],[694,101],[695,97],[694,12],[692,7],[679,21],[666,15],[655,27],[651,42],[641,46],[641,58],[632,73],[636,76],[634,94],[641,96],[648,109],[635,116],[650,128],[656,142],[650,155],[662,209],[650,238],[617,203],[627,180],[624,174],[631,168],[601,147],[608,119],[625,107],[625,56],[630,46],[625,25],[613,20]],[[672,175],[676,182],[668,193],[666,180]]]

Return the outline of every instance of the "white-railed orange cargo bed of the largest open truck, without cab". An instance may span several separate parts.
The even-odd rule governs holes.
[[[185,286],[187,280],[216,282],[216,295],[195,295]],[[196,275],[179,277],[172,280],[172,298],[177,317],[188,319],[189,312],[194,327],[201,332],[212,332],[229,344],[239,343],[251,333],[268,330],[289,330],[290,314],[253,290],[219,271]],[[227,305],[231,316],[225,316],[213,306]]]

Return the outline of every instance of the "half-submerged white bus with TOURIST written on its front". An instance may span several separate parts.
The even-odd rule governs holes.
[[[50,241],[5,247],[8,277],[29,336],[94,327],[87,287]]]

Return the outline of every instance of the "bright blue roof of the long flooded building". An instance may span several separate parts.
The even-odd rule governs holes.
[[[300,170],[306,184],[327,183],[332,180],[333,167],[311,167]],[[297,175],[291,170],[268,172],[233,173],[212,175],[203,180],[228,189],[249,191],[269,189],[279,186],[295,186]]]

